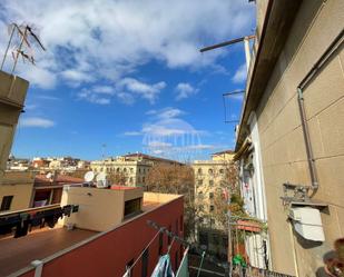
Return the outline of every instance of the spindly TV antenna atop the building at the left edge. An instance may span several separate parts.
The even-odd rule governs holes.
[[[10,34],[10,39],[9,42],[7,44],[4,55],[3,55],[3,59],[1,61],[1,67],[0,70],[2,70],[6,58],[8,56],[8,52],[10,50],[10,47],[13,42],[13,40],[17,41],[13,42],[14,44],[14,49],[12,50],[12,57],[13,57],[13,67],[11,70],[11,75],[13,75],[17,63],[18,63],[18,59],[19,56],[21,56],[23,62],[27,60],[32,65],[35,63],[35,57],[33,57],[33,50],[31,44],[37,43],[43,51],[46,51],[46,48],[43,47],[43,44],[41,43],[40,39],[38,38],[38,36],[35,33],[33,28],[30,27],[29,24],[16,24],[16,23],[11,23],[8,26],[8,31]],[[19,43],[19,44],[18,44]]]

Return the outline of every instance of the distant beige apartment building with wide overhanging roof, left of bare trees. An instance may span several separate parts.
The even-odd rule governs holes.
[[[95,172],[105,172],[110,176],[119,176],[126,186],[145,187],[146,178],[155,165],[181,165],[175,160],[158,158],[145,154],[128,154],[116,158],[91,161],[90,168]],[[116,178],[115,178],[116,179]]]

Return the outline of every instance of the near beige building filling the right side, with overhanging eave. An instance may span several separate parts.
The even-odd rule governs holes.
[[[344,2],[256,1],[257,30],[237,129],[242,194],[267,222],[268,263],[324,274],[344,234]],[[312,226],[312,228],[311,228]],[[246,241],[247,243],[247,241]]]

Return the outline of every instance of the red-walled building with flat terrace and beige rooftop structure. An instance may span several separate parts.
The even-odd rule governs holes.
[[[183,238],[183,196],[132,187],[69,187],[61,205],[36,211],[43,215],[52,209],[60,215],[67,207],[78,207],[53,228],[33,227],[20,239],[0,237],[0,276],[110,277],[124,276],[128,269],[131,277],[150,276],[159,256],[167,253],[173,270],[178,269],[184,246],[173,236]],[[31,226],[37,221],[35,209],[27,212],[33,217],[33,221],[27,219]],[[148,220],[165,227],[170,236]]]

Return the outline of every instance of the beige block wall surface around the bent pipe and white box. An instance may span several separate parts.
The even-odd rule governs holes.
[[[318,172],[314,199],[326,201],[322,212],[326,243],[316,246],[292,236],[279,199],[282,184],[309,185],[296,87],[344,27],[344,1],[303,1],[289,37],[257,109],[267,198],[273,267],[314,276],[334,239],[344,236],[344,52],[335,53],[305,89],[305,109]],[[296,251],[294,251],[295,244]]]

